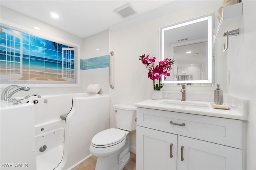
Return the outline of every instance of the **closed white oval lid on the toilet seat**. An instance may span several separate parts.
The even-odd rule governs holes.
[[[126,132],[124,130],[110,128],[97,133],[92,138],[92,144],[96,147],[108,147],[118,144],[124,140],[125,136]]]

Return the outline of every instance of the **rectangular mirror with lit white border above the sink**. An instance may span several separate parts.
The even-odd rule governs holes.
[[[172,85],[215,85],[215,13],[160,28],[160,60],[175,60]]]

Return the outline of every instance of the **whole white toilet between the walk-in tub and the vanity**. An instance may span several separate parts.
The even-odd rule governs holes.
[[[136,129],[136,107],[113,105],[116,127],[103,130],[92,138],[90,152],[98,157],[95,170],[122,170],[130,159],[130,137]]]

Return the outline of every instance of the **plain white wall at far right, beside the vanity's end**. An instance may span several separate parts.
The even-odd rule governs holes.
[[[229,39],[226,58],[230,84],[226,93],[250,100],[247,124],[247,168],[256,169],[256,1],[243,0],[243,17],[238,37]],[[234,28],[236,29],[236,28]],[[221,45],[220,45],[221,46]],[[225,82],[223,82],[225,84]]]

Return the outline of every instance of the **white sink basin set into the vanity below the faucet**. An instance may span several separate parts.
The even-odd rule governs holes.
[[[198,102],[198,101],[162,100],[162,101],[158,102],[157,104],[165,105],[165,106],[174,106],[174,107],[210,109],[209,103],[203,103],[203,102]]]

